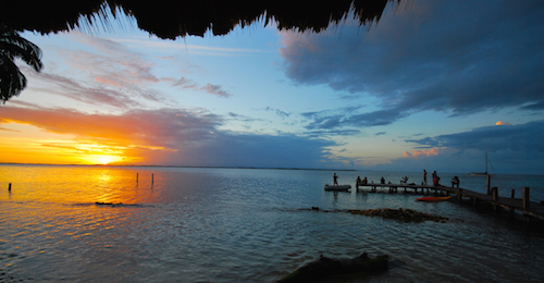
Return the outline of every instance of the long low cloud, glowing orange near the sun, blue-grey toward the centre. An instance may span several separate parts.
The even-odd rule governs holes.
[[[222,118],[183,109],[129,110],[120,115],[69,109],[2,107],[0,123],[16,122],[74,136],[143,159],[144,164],[210,167],[331,168],[332,140],[297,135],[220,131]],[[46,147],[74,149],[65,144]],[[75,149],[74,149],[75,150]],[[81,150],[81,149],[79,149]],[[263,162],[265,160],[265,162]]]

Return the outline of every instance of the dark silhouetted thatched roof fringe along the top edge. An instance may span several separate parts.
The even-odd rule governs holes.
[[[16,0],[2,4],[0,24],[41,34],[78,27],[81,16],[104,20],[107,10],[136,19],[160,38],[225,35],[237,25],[275,21],[280,29],[320,32],[354,11],[361,24],[380,20],[387,2],[403,0]],[[119,10],[118,10],[119,9]]]

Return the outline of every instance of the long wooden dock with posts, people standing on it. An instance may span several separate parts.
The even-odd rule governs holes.
[[[544,221],[544,205],[530,201],[529,198],[529,187],[523,187],[523,198],[514,198],[514,190],[511,197],[499,197],[497,187],[492,187],[490,194],[481,194],[466,188],[457,188],[457,187],[446,187],[446,186],[433,186],[433,185],[415,185],[415,184],[359,184],[357,187],[357,192],[363,192],[363,188],[367,188],[367,192],[376,193],[379,189],[384,192],[385,189],[388,193],[398,193],[404,190],[404,193],[413,193],[413,194],[445,194],[445,195],[456,195],[458,200],[462,198],[470,198],[474,206],[478,202],[486,202],[492,205],[495,209],[505,208],[510,211],[518,210],[526,218],[533,217]]]

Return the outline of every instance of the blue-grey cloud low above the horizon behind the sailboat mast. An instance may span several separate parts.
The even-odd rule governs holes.
[[[419,149],[405,151],[403,158],[373,169],[406,171],[434,168],[453,173],[483,171],[484,152],[487,151],[495,173],[542,174],[543,139],[544,120],[406,139]]]

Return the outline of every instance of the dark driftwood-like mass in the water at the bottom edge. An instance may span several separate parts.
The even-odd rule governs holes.
[[[350,259],[333,259],[320,256],[306,266],[277,281],[279,283],[316,282],[338,274],[376,272],[387,270],[387,255],[369,258],[367,253]]]

